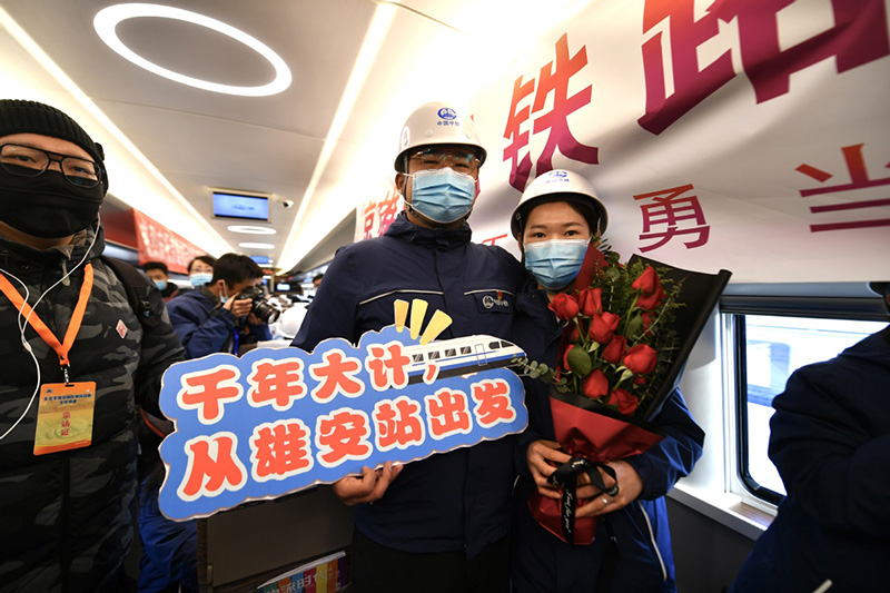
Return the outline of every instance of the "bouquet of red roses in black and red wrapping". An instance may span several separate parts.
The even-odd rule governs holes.
[[[622,265],[609,247],[591,246],[573,290],[551,302],[566,323],[557,367],[526,358],[516,363],[552,384],[556,441],[572,455],[551,476],[563,487],[562,501],[537,492],[528,501],[535,520],[557,537],[593,542],[595,517],[574,517],[580,473],[614,496],[620,485],[606,488],[600,470],[614,478],[609,462],[661,441],[651,421],[674,391],[730,275],[688,271],[640,256]]]

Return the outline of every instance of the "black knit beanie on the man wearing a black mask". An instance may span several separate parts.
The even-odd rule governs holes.
[[[0,99],[0,137],[12,134],[39,134],[76,144],[86,150],[102,170],[102,186],[108,191],[102,145],[93,142],[83,128],[66,113],[37,101]]]

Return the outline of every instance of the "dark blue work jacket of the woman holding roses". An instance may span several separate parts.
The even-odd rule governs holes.
[[[563,326],[548,304],[543,290],[526,287],[520,293],[512,342],[530,359],[555,366]],[[604,530],[597,525],[593,544],[572,546],[538,525],[528,511],[526,502],[535,485],[525,463],[526,448],[533,441],[555,438],[547,384],[528,377],[523,377],[523,383],[528,429],[517,437],[522,472],[516,487],[511,557],[514,591],[594,591],[607,542]],[[661,428],[664,438],[642,455],[624,459],[643,480],[643,492],[624,508],[606,515],[619,551],[612,580],[614,592],[676,591],[664,494],[692,471],[702,454],[704,432],[679,391],[668,398],[652,423]]]

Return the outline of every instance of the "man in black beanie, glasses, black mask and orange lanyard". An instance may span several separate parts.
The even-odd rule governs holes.
[[[101,256],[103,158],[62,111],[0,100],[0,591],[132,587],[137,405],[160,416],[182,346],[155,286],[131,269],[137,315]]]

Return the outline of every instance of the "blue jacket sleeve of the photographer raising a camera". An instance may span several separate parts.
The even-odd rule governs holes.
[[[186,296],[169,300],[167,310],[189,359],[220,352],[235,329],[231,312],[218,308],[208,314]]]

